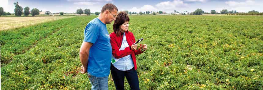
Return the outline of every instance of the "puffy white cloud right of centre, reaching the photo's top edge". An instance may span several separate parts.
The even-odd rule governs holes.
[[[179,7],[186,7],[188,4],[184,3],[181,0],[174,0],[173,2],[167,1],[167,2],[160,2],[156,4],[156,7],[158,9],[163,9],[163,10],[169,10],[169,9],[175,9]]]

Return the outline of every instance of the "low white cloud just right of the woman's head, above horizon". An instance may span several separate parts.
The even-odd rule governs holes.
[[[128,9],[129,12],[137,12],[139,13],[141,12],[146,12],[146,11],[158,11],[158,9],[156,9],[155,7],[153,7],[152,5],[144,5],[141,8],[137,8],[137,7],[133,7],[132,9]]]

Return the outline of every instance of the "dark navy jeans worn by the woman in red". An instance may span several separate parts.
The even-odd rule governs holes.
[[[134,70],[134,67],[131,70],[118,70],[111,63],[111,76],[114,81],[116,90],[124,90],[124,76],[126,77],[131,90],[140,90],[139,79],[137,71]]]

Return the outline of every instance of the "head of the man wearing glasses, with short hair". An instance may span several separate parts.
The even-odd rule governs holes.
[[[103,18],[105,18],[106,24],[111,24],[111,22],[116,19],[117,12],[118,8],[115,5],[107,3],[102,7],[100,15],[102,15]]]

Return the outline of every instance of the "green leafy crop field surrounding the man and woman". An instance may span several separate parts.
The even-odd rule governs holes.
[[[79,49],[95,17],[1,31],[1,88],[90,89]],[[132,15],[129,30],[148,45],[137,55],[142,90],[263,89],[263,16]]]

